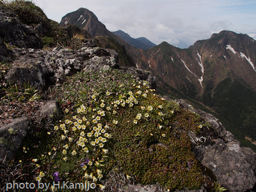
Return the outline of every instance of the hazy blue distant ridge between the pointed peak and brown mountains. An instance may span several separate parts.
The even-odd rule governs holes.
[[[121,30],[114,31],[113,34],[121,37],[127,43],[129,43],[130,45],[133,45],[133,47],[136,47],[136,48],[150,49],[156,46],[156,44],[152,43],[150,40],[146,39],[145,37],[139,37],[137,39],[134,39],[133,37],[131,37],[130,35],[126,34]]]

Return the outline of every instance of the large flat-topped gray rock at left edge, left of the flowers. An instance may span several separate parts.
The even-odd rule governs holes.
[[[9,124],[0,127],[0,158],[11,160],[27,135],[28,119],[26,117],[13,119]]]

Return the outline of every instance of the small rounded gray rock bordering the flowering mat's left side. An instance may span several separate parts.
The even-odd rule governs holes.
[[[60,115],[60,107],[57,101],[47,101],[39,108],[40,113],[45,115],[48,119],[57,119]]]

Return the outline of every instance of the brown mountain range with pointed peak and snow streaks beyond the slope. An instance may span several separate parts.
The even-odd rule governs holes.
[[[63,17],[60,24],[75,24],[96,37],[99,44],[117,50],[121,64],[149,70],[158,91],[185,98],[217,115],[243,145],[256,140],[256,42],[244,34],[221,31],[186,49],[163,42],[150,49],[136,48],[142,40],[122,31],[114,34],[86,9]],[[151,43],[151,42],[150,42]],[[153,46],[153,44],[147,45]],[[133,46],[131,46],[133,45]]]

